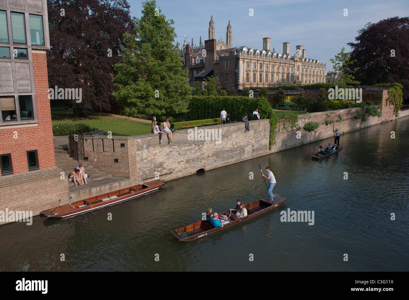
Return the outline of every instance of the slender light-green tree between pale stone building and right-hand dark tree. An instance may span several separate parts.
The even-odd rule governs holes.
[[[351,52],[345,52],[345,47],[342,47],[341,52],[335,55],[335,58],[330,58],[333,65],[333,72],[329,72],[329,75],[341,74],[341,82],[344,85],[360,84],[359,81],[355,80],[352,75],[358,70],[357,67],[351,68],[351,65],[356,62],[356,60],[350,60]]]

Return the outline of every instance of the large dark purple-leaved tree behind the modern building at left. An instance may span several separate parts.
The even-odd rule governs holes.
[[[61,16],[60,9],[65,15]],[[83,109],[109,111],[124,33],[133,29],[126,0],[48,0],[51,49],[47,53],[50,87],[81,89]],[[76,100],[51,100],[83,114]]]

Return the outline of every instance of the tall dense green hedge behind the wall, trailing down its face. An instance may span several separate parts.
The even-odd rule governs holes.
[[[253,111],[258,108],[261,119],[270,119],[270,149],[275,142],[278,118],[265,98],[249,98],[243,96],[192,96],[189,103],[188,120],[202,120],[220,117],[222,109],[226,109],[230,122],[240,121],[247,113],[253,119]],[[194,125],[194,124],[192,124]],[[182,125],[184,126],[184,125]]]

